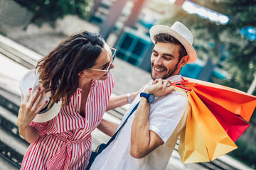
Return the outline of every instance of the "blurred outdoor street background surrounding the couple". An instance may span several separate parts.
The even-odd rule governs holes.
[[[149,28],[180,21],[194,35],[198,60],[181,75],[256,95],[256,0],[0,0],[0,170],[19,169],[28,143],[18,135],[18,82],[58,43],[82,30],[117,48],[114,95],[137,91],[150,77]],[[127,107],[105,114],[120,122]],[[175,150],[166,169],[255,169],[256,113],[238,149],[201,164],[182,164]],[[109,137],[93,132],[92,149]],[[177,149],[177,148],[176,148]]]

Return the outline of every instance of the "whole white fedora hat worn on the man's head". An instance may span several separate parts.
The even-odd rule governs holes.
[[[174,38],[176,38],[181,44],[185,47],[186,52],[188,53],[188,63],[195,62],[197,55],[196,51],[194,50],[193,44],[193,35],[186,26],[184,26],[180,22],[175,22],[173,26],[164,26],[164,25],[156,25],[152,26],[149,30],[150,38],[153,43],[155,43],[154,35],[159,33],[166,33]]]

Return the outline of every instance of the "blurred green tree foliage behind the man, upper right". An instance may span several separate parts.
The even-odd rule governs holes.
[[[228,79],[213,78],[213,81],[247,91],[256,74],[256,40],[247,39],[240,30],[246,26],[256,28],[256,0],[197,0],[196,3],[229,16],[230,21],[226,25],[214,23],[173,5],[161,23],[171,26],[180,21],[188,26],[194,35],[193,46],[198,57],[204,61],[210,57],[228,72]]]

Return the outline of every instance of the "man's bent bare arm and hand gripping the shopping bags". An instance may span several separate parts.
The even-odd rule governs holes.
[[[169,94],[174,89],[171,86],[167,87],[168,82],[157,79],[154,85],[147,87],[144,92],[154,94],[154,96]],[[134,158],[146,157],[147,154],[164,143],[156,132],[149,130],[149,111],[150,103],[146,101],[146,98],[142,98],[132,123],[130,154]]]

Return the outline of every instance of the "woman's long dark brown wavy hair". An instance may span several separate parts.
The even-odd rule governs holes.
[[[42,89],[51,92],[50,103],[62,100],[68,105],[78,89],[78,73],[95,65],[105,41],[99,34],[82,32],[60,42],[46,57],[38,61]]]

